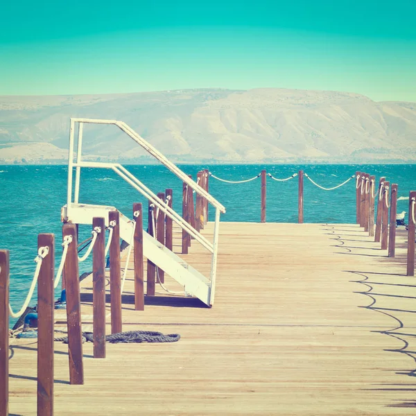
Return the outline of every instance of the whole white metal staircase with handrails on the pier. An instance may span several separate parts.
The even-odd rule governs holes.
[[[73,148],[74,148],[74,132],[75,123],[79,124],[78,129],[78,147],[76,154],[76,162],[73,162]],[[121,128],[123,132],[127,133],[133,140],[135,140],[141,147],[153,155],[159,162],[162,162],[171,172],[175,173],[181,181],[185,182],[191,189],[206,198],[216,208],[215,227],[214,227],[214,241],[211,243],[205,236],[194,229],[187,221],[185,221],[177,212],[161,199],[157,197],[146,185],[144,185],[137,177],[132,175],[121,164],[101,163],[101,162],[83,162],[82,160],[82,144],[83,144],[83,124],[84,123],[99,123],[99,124],[114,124]],[[76,168],[75,177],[75,192],[73,195],[73,167]],[[220,220],[220,212],[225,213],[225,207],[221,205],[215,198],[213,198],[205,189],[202,189],[196,182],[191,180],[184,172],[182,172],[175,164],[171,163],[159,153],[153,146],[140,137],[134,130],[121,121],[113,120],[95,120],[95,119],[71,119],[71,128],[69,135],[69,161],[68,161],[68,193],[67,205],[62,207],[62,220],[74,224],[92,224],[92,218],[103,217],[108,221],[108,212],[116,208],[103,205],[85,205],[81,204],[79,199],[80,189],[80,169],[87,168],[109,168],[117,175],[122,177],[132,187],[137,189],[139,193],[145,196],[148,200],[171,218],[177,225],[193,236],[204,248],[211,254],[211,275],[209,278],[202,275],[198,270],[190,266],[186,261],[177,256],[171,250],[168,250],[164,245],[156,241],[153,236],[150,236],[144,231],[144,257],[155,263],[156,266],[164,270],[168,275],[173,277],[179,284],[184,286],[186,293],[198,297],[202,302],[208,306],[214,304],[215,284],[216,284],[216,261],[218,254],[218,226]],[[130,242],[132,240],[133,223],[126,216],[120,213],[120,236],[123,240]]]

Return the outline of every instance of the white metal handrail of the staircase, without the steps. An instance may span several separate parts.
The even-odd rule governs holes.
[[[78,139],[77,139],[77,150],[76,150],[76,162],[73,162],[73,153],[74,153],[74,142],[75,142],[75,125],[79,124],[78,128]],[[163,200],[157,198],[157,195],[150,191],[145,184],[132,175],[124,166],[118,163],[105,163],[105,162],[86,162],[82,158],[82,148],[83,148],[83,124],[112,124],[116,125],[123,132],[125,132],[131,139],[133,139],[137,144],[139,144],[144,150],[146,150],[150,155],[159,160],[166,168],[169,169],[173,174],[185,182],[191,189],[196,191],[200,196],[205,198],[211,205],[216,208],[215,214],[215,224],[214,224],[214,241],[210,243],[205,236],[202,236],[195,228],[193,228],[186,220],[182,218],[176,211],[169,207]],[[72,200],[73,193],[73,168],[76,168],[75,174],[75,187],[74,187],[74,197]],[[71,125],[69,129],[69,157],[68,157],[68,190],[67,190],[67,217],[71,212],[71,205],[78,204],[79,194],[80,194],[80,175],[81,168],[107,168],[112,169],[117,175],[119,175],[125,182],[128,182],[133,188],[135,188],[141,195],[153,202],[156,207],[171,218],[177,225],[189,233],[196,241],[198,241],[203,247],[205,247],[212,254],[211,258],[211,300],[214,300],[214,291],[216,283],[216,263],[218,255],[218,231],[220,223],[220,213],[225,213],[225,207],[220,204],[215,198],[213,198],[205,189],[200,187],[195,181],[191,180],[184,172],[180,170],[175,164],[170,162],[162,153],[160,153],[156,148],[144,140],[140,135],[137,134],[130,126],[128,126],[123,121],[116,120],[100,120],[100,119],[78,119],[71,118]],[[211,302],[212,304],[212,302]]]

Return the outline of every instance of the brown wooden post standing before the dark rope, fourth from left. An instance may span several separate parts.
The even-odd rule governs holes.
[[[105,358],[105,220],[92,218],[92,229],[100,227],[92,249],[92,313],[94,358]]]

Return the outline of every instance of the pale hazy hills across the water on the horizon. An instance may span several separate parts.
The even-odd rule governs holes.
[[[415,162],[416,103],[346,92],[190,89],[0,96],[0,163],[63,162],[71,116],[125,121],[178,162]],[[146,162],[115,126],[85,126],[91,159]]]

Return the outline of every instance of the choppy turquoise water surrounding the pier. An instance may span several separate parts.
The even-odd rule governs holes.
[[[173,189],[173,208],[182,212],[182,183],[164,166],[126,166],[155,193]],[[262,168],[279,178],[296,173],[301,168],[323,187],[333,187],[347,180],[356,171],[381,175],[399,184],[399,196],[408,196],[416,189],[416,165],[183,165],[182,170],[196,177],[202,168],[227,180],[243,180],[257,175]],[[67,198],[66,166],[0,166],[0,248],[10,250],[10,303],[17,310],[31,284],[37,254],[37,234],[53,232],[57,252],[55,266],[60,261],[60,209]],[[210,179],[209,191],[227,209],[223,221],[260,220],[260,178],[244,184],[226,184]],[[147,201],[115,173],[108,170],[84,169],[81,177],[80,202],[114,205],[132,217],[132,203]],[[398,211],[408,211],[408,201],[398,202]],[[267,221],[297,222],[297,177],[287,182],[267,181]],[[209,211],[213,220],[214,209]],[[146,216],[145,218],[146,219]],[[322,191],[304,178],[304,222],[355,223],[355,182],[351,180],[335,191]],[[406,214],[407,222],[407,214]],[[145,227],[147,226],[145,221]],[[87,238],[91,227],[80,227],[80,239]],[[90,271],[92,259],[80,265],[80,272]],[[56,295],[58,297],[59,291]],[[34,301],[31,304],[35,304]],[[13,323],[13,322],[11,322]]]

